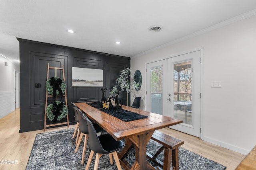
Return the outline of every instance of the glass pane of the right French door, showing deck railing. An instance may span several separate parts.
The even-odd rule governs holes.
[[[192,125],[191,61],[174,64],[174,118]]]

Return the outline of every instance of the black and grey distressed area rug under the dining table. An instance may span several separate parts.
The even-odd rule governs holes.
[[[36,135],[32,151],[28,160],[26,170],[84,170],[89,154],[90,147],[87,144],[84,164],[81,164],[83,144],[76,153],[76,138],[72,139],[74,129],[67,129],[55,132],[46,132]],[[161,146],[155,141],[150,140],[147,151],[154,154]],[[130,164],[134,162],[134,150],[132,149],[126,160]],[[163,159],[163,153],[158,156]],[[90,170],[94,168],[94,158],[90,164]],[[149,161],[150,162],[150,161]],[[182,147],[179,147],[180,170],[224,170],[226,167],[212,160],[194,154]],[[155,166],[152,162],[150,162]],[[98,170],[116,170],[116,164],[110,164],[109,156],[103,155],[100,158]]]

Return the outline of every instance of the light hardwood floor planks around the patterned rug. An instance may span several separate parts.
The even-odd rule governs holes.
[[[75,125],[70,125],[69,128],[74,127]],[[19,129],[20,109],[16,109],[0,119],[0,170],[25,170],[36,134],[44,133],[44,130],[19,133]],[[68,127],[50,128],[46,129],[46,132],[62,129],[68,129]],[[213,145],[179,131],[169,128],[160,131],[184,141],[183,148],[227,166],[226,170],[236,169],[245,157],[243,154]],[[13,164],[5,164],[6,161],[12,161]]]

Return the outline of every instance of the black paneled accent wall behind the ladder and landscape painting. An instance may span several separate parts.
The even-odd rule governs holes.
[[[48,63],[54,67],[64,65],[70,124],[76,123],[71,102],[100,101],[102,97],[101,87],[72,87],[72,67],[103,69],[104,87],[108,88],[106,97],[110,95],[121,70],[130,68],[129,57],[17,39],[20,42],[20,132],[44,129]],[[50,69],[49,78],[52,76],[55,76],[55,70]],[[57,76],[63,78],[60,70]],[[130,95],[128,97],[130,101]],[[120,92],[120,98],[125,105],[126,92]],[[48,98],[48,104],[54,101],[54,98]],[[47,118],[46,124],[52,122]]]

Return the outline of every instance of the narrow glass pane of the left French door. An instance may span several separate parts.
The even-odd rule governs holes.
[[[150,111],[162,115],[162,66],[150,68]]]

